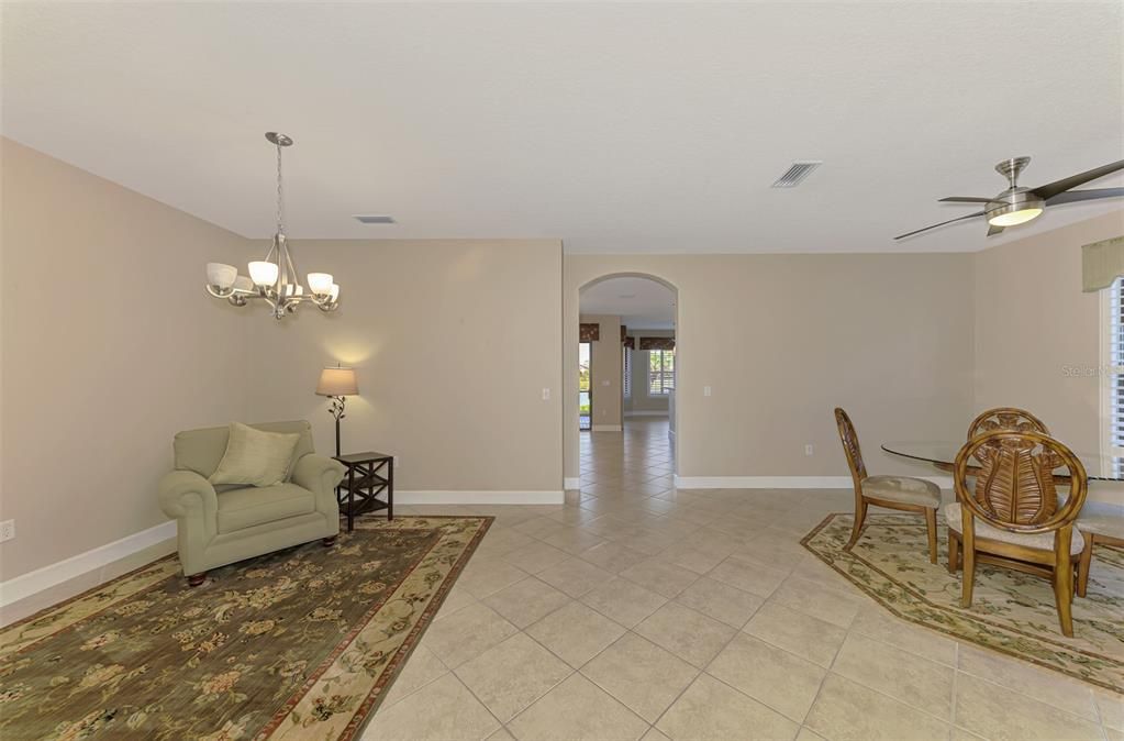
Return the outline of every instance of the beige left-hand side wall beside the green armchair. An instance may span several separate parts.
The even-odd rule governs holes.
[[[172,435],[245,413],[235,234],[0,138],[0,580],[164,522]],[[262,319],[264,322],[264,319]]]

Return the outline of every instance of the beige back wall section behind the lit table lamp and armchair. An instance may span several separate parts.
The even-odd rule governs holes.
[[[320,369],[341,361],[359,369],[360,386],[344,452],[398,455],[398,489],[561,490],[560,242],[299,241],[293,250],[298,269],[336,277],[341,306],[246,319],[253,418],[309,419],[317,448],[330,451],[328,403],[314,390]]]

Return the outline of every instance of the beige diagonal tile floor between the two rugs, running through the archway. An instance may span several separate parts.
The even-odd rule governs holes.
[[[799,540],[840,490],[676,490],[667,421],[496,516],[364,739],[1095,739],[1124,698],[899,621]],[[407,514],[423,508],[401,507]]]

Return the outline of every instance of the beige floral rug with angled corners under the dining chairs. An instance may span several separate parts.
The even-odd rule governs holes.
[[[1098,545],[1087,597],[1073,599],[1073,638],[1061,634],[1050,582],[977,564],[973,600],[960,607],[961,572],[930,563],[925,521],[868,515],[851,552],[853,516],[828,515],[801,543],[898,617],[1124,693],[1124,552]]]

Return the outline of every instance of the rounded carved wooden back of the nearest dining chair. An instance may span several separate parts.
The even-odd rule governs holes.
[[[970,461],[979,470],[969,471]],[[1069,497],[1059,507],[1055,472],[1069,475]],[[975,477],[975,490],[969,478]],[[994,430],[968,441],[953,468],[957,499],[989,525],[1016,533],[1045,533],[1072,525],[1088,494],[1081,461],[1064,444],[1033,431]]]

